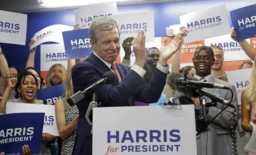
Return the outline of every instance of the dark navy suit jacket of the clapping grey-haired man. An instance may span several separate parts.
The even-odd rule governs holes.
[[[167,74],[155,69],[151,81],[147,84],[134,70],[118,63],[116,66],[122,81],[118,83],[116,79],[114,83],[105,84],[97,90],[97,101],[101,102],[102,107],[134,106],[135,100],[144,103],[155,103],[159,100]],[[79,62],[72,69],[74,93],[96,83],[109,71],[110,68],[92,53],[88,59]],[[90,102],[91,95],[77,104],[79,119],[74,155],[91,155],[92,152],[91,125],[85,119]]]

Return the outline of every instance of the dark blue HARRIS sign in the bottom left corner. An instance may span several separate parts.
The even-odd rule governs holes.
[[[0,115],[0,152],[22,155],[28,145],[33,154],[40,154],[45,113],[10,113]]]

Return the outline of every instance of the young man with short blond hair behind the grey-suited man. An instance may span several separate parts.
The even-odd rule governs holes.
[[[215,58],[214,64],[211,67],[211,74],[217,79],[228,82],[227,75],[224,74],[222,70],[222,64],[224,61],[223,49],[218,45],[211,45],[210,48],[213,50],[214,58]]]

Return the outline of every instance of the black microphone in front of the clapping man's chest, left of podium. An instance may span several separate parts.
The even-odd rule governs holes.
[[[80,100],[85,98],[87,94],[95,92],[102,85],[113,83],[115,80],[116,74],[114,74],[114,72],[109,71],[103,75],[103,78],[101,80],[86,88],[84,91],[78,91],[76,94],[72,95],[70,98],[68,98],[67,102],[70,106],[74,106]]]

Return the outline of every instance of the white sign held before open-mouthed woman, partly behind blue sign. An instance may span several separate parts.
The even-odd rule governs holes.
[[[54,106],[45,104],[25,104],[7,102],[6,113],[45,113],[43,133],[59,136],[56,125]]]

